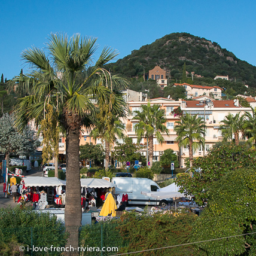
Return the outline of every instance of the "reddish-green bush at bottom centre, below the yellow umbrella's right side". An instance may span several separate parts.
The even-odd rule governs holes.
[[[121,252],[143,251],[147,249],[163,248],[173,245],[182,245],[190,242],[192,224],[197,215],[180,214],[174,217],[170,213],[154,215],[137,215],[135,212],[121,217],[118,229],[129,245]],[[194,245],[176,246],[134,255],[206,255]]]

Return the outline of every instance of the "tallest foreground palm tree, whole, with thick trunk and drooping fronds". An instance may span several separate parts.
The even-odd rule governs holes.
[[[19,82],[19,90],[27,95],[19,99],[15,109],[17,126],[23,127],[29,120],[34,120],[39,126],[45,117],[45,105],[50,104],[58,112],[59,126],[66,133],[65,225],[67,230],[74,228],[73,239],[76,237],[68,240],[68,245],[74,247],[78,246],[78,228],[82,217],[79,166],[81,127],[90,129],[93,126],[95,105],[92,99],[104,101],[111,95],[111,90],[101,86],[98,81],[115,82],[115,78],[111,78],[103,66],[117,53],[104,48],[99,59],[93,63],[96,49],[96,39],[80,38],[80,35],[69,39],[67,35],[51,34],[45,48],[47,52],[35,47],[23,51],[22,59],[31,65],[32,71],[13,79],[13,84]],[[117,83],[122,81],[116,80]]]

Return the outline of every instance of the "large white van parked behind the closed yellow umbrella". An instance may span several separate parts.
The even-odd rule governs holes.
[[[115,193],[128,194],[129,205],[160,205],[172,203],[170,199],[156,199],[145,196],[141,192],[157,191],[159,185],[147,178],[113,177],[112,183],[116,184]]]

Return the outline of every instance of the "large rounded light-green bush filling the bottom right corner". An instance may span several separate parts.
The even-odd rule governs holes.
[[[193,225],[192,240],[228,239],[199,243],[208,255],[255,255],[256,173],[235,169],[208,186],[209,203]],[[237,236],[237,237],[230,237]]]

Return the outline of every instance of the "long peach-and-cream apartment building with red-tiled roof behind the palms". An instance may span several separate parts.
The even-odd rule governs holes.
[[[200,105],[200,100],[210,99],[211,104],[208,105]],[[154,158],[153,161],[159,161],[161,154],[163,154],[164,150],[168,148],[172,149],[177,156],[179,156],[181,166],[185,167],[185,159],[188,156],[188,147],[180,148],[178,147],[178,142],[176,142],[176,133],[174,132],[174,127],[176,122],[180,120],[178,116],[174,117],[172,111],[175,108],[180,107],[184,114],[189,113],[192,115],[198,115],[203,120],[205,120],[206,124],[206,135],[205,135],[205,150],[203,148],[199,148],[198,150],[193,152],[194,157],[201,157],[208,153],[208,150],[214,145],[216,142],[221,141],[222,135],[221,132],[218,130],[221,121],[224,120],[225,116],[228,113],[236,115],[240,112],[240,114],[244,114],[245,111],[252,112],[251,108],[243,108],[239,104],[239,100],[213,100],[212,98],[204,96],[200,98],[200,100],[173,100],[173,99],[166,99],[164,97],[158,97],[155,99],[150,99],[150,104],[160,105],[161,109],[164,109],[166,112],[166,127],[169,130],[169,135],[163,134],[164,142],[160,144],[156,138],[154,138]],[[135,125],[138,123],[138,120],[133,119],[135,116],[134,111],[141,111],[141,105],[145,105],[147,101],[129,101],[127,102],[129,105],[130,112],[127,118],[123,119],[122,122],[125,128],[125,135],[132,138],[133,143],[137,143],[137,136],[135,133]],[[42,140],[42,137],[39,137]],[[119,143],[123,143],[122,139],[117,139]],[[86,143],[92,142],[93,144],[104,144],[100,139],[96,139],[96,142],[93,138],[89,136],[89,133],[86,132],[86,129],[81,131],[80,136],[80,145],[84,145]],[[142,145],[141,153],[146,156],[147,154],[147,139],[142,138],[139,142]],[[42,150],[42,148],[38,148],[38,150]],[[60,136],[59,141],[59,154],[62,159],[65,159],[66,154],[66,147],[65,147],[65,138]]]

